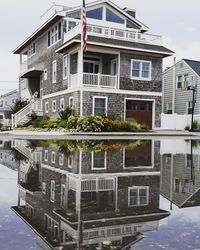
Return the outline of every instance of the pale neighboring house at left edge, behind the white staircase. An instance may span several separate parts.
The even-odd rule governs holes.
[[[13,90],[0,96],[0,123],[8,126],[11,119],[11,107],[19,99],[19,91]]]

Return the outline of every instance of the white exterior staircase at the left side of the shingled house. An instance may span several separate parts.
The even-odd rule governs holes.
[[[37,116],[43,116],[42,99],[32,98],[30,103],[17,113],[12,115],[12,129],[17,126],[23,126],[28,123],[31,118],[30,115],[35,112]]]

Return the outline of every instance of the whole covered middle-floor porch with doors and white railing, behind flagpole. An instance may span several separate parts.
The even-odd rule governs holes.
[[[85,87],[117,89],[118,62],[118,54],[88,52],[83,58],[82,73],[80,51],[69,53],[64,56],[63,84],[67,88],[76,88],[83,82]]]

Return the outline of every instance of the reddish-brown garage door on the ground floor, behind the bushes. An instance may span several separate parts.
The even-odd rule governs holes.
[[[126,118],[133,118],[152,129],[152,101],[127,100]]]

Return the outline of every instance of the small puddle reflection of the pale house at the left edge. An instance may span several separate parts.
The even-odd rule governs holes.
[[[15,171],[18,170],[18,163],[15,161],[10,141],[0,140],[0,164]]]

